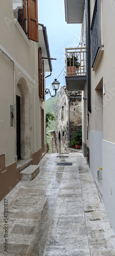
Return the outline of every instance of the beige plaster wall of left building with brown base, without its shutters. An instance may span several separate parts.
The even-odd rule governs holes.
[[[1,197],[13,188],[20,180],[16,169],[16,95],[20,96],[21,116],[21,159],[33,158],[38,164],[42,152],[47,152],[45,142],[45,101],[39,97],[38,82],[38,48],[47,57],[42,26],[39,42],[22,36],[14,23],[16,13],[13,11],[12,0],[1,0],[0,8],[0,156],[5,154],[5,172],[1,180],[7,189],[1,187]],[[50,71],[48,60],[44,60],[45,71]],[[45,81],[44,81],[45,86]],[[14,106],[14,126],[10,126],[10,105]],[[44,110],[44,132],[41,141],[41,109]],[[42,122],[43,123],[43,122]],[[12,177],[13,176],[13,177]]]

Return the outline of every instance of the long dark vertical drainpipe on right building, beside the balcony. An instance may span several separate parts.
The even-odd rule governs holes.
[[[87,39],[88,39],[88,45],[87,45],[87,50],[88,50],[88,74],[87,74],[87,90],[88,90],[88,95],[87,95],[87,108],[88,111],[91,113],[91,105],[90,105],[90,0],[87,0]]]

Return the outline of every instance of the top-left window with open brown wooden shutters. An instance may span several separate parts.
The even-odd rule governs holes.
[[[18,23],[29,39],[38,42],[37,0],[23,2],[23,9],[18,10]]]

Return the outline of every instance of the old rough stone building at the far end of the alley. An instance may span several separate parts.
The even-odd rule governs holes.
[[[66,153],[82,128],[81,91],[61,87],[55,105],[55,131],[51,131],[51,153]]]

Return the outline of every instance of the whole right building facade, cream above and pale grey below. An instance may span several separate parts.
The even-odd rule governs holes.
[[[70,6],[69,3],[65,0],[66,21],[82,24],[81,47],[86,45],[86,80],[81,89],[83,154],[115,230],[114,3],[103,0],[86,0],[82,5],[76,1]],[[74,79],[78,88],[79,81],[77,77]],[[102,167],[102,182],[97,181],[98,167]]]

